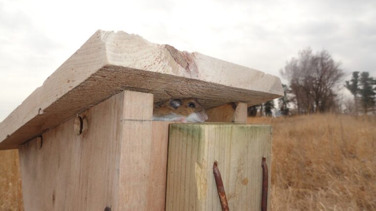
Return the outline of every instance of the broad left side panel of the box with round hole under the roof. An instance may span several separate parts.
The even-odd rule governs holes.
[[[26,211],[117,210],[123,93],[81,114],[89,122],[77,136],[73,119],[20,150]],[[39,142],[40,143],[40,142]]]

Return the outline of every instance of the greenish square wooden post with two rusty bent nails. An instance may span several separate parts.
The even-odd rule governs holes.
[[[266,157],[270,190],[270,152],[270,126],[171,124],[166,211],[221,211],[214,161],[218,161],[230,211],[259,211],[261,160]]]

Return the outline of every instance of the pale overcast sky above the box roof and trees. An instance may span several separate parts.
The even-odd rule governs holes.
[[[0,121],[97,29],[277,76],[310,46],[376,76],[376,0],[0,0]]]

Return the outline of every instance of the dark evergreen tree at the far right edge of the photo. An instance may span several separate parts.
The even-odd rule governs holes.
[[[361,89],[359,90],[361,105],[364,113],[367,113],[370,108],[375,108],[376,92],[373,87],[375,79],[370,77],[368,72],[362,72],[360,74],[359,84],[361,85]]]

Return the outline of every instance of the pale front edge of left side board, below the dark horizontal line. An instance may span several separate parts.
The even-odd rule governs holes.
[[[151,121],[124,121],[120,155],[119,210],[145,210],[150,175]]]

